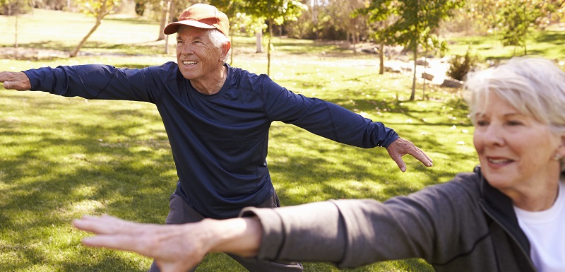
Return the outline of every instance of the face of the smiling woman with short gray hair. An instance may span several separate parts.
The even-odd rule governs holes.
[[[557,186],[560,166],[554,155],[561,137],[493,92],[484,109],[475,116],[473,141],[489,184],[511,198],[536,187]]]

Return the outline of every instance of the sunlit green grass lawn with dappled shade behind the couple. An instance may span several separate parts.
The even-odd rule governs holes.
[[[36,10],[23,17],[20,47],[67,51],[94,22],[59,11]],[[12,25],[12,20],[0,17],[0,24]],[[0,71],[89,63],[135,68],[174,60],[174,49],[162,54],[165,43],[155,42],[157,30],[156,22],[109,18],[83,47],[90,54],[5,58]],[[13,45],[13,29],[0,28],[0,34],[0,49]],[[266,54],[255,54],[253,41],[234,38],[233,66],[265,73]],[[270,76],[275,81],[381,121],[434,159],[434,167],[427,168],[405,157],[408,171],[403,173],[384,148],[345,146],[275,122],[268,164],[283,206],[326,199],[383,201],[446,182],[477,164],[473,128],[459,90],[427,85],[422,100],[420,85],[417,100],[404,101],[410,96],[411,78],[379,76],[373,55],[311,41],[274,42]],[[321,50],[339,52],[340,57],[320,59]],[[177,177],[154,105],[2,88],[0,105],[0,271],[146,271],[151,260],[143,256],[81,246],[88,234],[73,229],[71,220],[110,214],[143,223],[165,221]],[[331,264],[304,266],[306,271],[340,271]],[[244,270],[224,254],[210,254],[199,271]],[[341,271],[431,269],[415,259]]]

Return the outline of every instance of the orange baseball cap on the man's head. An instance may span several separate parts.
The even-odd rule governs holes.
[[[194,4],[182,11],[179,21],[169,23],[163,32],[167,35],[176,33],[179,25],[190,25],[195,28],[217,29],[226,37],[230,30],[230,21],[222,11],[208,4]]]

